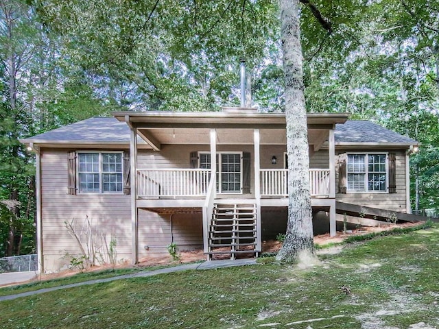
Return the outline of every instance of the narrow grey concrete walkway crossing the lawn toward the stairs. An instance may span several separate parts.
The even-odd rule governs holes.
[[[187,271],[188,269],[219,269],[219,268],[223,268],[223,267],[254,265],[254,264],[256,264],[256,259],[254,259],[254,258],[244,258],[244,259],[237,259],[237,260],[211,260],[209,262],[204,262],[204,263],[185,264],[185,265],[179,265],[176,267],[166,267],[165,269],[156,269],[154,271],[143,271],[143,272],[132,273],[132,274],[124,274],[123,276],[113,276],[111,278],[89,280],[89,281],[84,281],[84,282],[66,284],[64,286],[39,289],[39,290],[35,290],[35,291],[27,291],[25,293],[17,293],[16,295],[0,296],[0,302],[3,302],[3,300],[15,300],[16,298],[19,298],[19,297],[38,295],[40,293],[48,293],[49,291],[56,291],[56,290],[62,290],[62,289],[69,289],[69,288],[73,288],[73,287],[86,286],[88,284],[112,282],[115,280],[132,279],[132,278],[145,278],[147,276],[156,276],[158,274],[174,273],[174,272],[178,272],[178,271]]]

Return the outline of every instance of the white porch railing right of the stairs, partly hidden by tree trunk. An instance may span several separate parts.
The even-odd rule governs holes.
[[[288,195],[288,169],[261,169],[261,196]],[[329,195],[329,169],[309,169],[311,197]]]

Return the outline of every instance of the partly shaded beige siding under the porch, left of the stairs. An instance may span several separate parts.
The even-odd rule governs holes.
[[[202,247],[200,212],[201,209],[194,209],[194,213],[157,214],[139,210],[139,259],[167,254],[172,242],[180,251]]]

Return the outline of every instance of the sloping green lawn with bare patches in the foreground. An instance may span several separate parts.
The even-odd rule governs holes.
[[[2,328],[434,328],[438,256],[435,225],[346,245],[306,269],[268,257],[0,302],[0,321]]]

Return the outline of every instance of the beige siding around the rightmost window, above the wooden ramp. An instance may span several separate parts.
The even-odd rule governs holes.
[[[374,151],[365,150],[361,152],[373,153]],[[338,192],[338,155],[346,153],[346,151],[337,150],[335,153],[337,160],[335,165],[335,191]],[[355,151],[347,151],[347,153],[355,153]],[[396,193],[337,193],[335,196],[337,201],[405,212],[405,151],[392,151],[392,153],[396,154]]]

